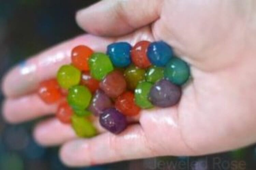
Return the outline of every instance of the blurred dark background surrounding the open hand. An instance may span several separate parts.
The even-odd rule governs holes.
[[[75,12],[94,2],[96,0],[0,0],[0,78],[28,56],[83,33],[76,26]],[[2,95],[0,100],[2,102]],[[36,122],[10,125],[0,119],[0,170],[70,169],[61,164],[58,148],[43,148],[31,138]],[[76,169],[255,170],[256,147],[202,157],[159,157]]]

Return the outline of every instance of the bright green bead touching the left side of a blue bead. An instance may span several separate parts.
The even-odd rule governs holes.
[[[94,53],[89,58],[89,67],[91,75],[97,80],[102,80],[109,72],[114,70],[108,55],[103,53]]]

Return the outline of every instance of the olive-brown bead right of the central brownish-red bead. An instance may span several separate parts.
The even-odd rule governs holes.
[[[138,83],[145,80],[145,70],[138,68],[134,65],[130,65],[124,72],[127,87],[130,90],[134,90]]]

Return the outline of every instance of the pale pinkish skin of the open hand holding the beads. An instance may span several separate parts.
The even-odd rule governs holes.
[[[254,0],[103,0],[79,11],[89,34],[33,56],[7,73],[3,114],[18,123],[49,115],[56,105],[36,95],[38,83],[70,63],[70,50],[84,44],[106,50],[114,41],[164,40],[191,65],[193,79],[177,106],[144,110],[119,135],[78,139],[56,118],[39,123],[35,139],[62,145],[68,166],[88,166],[163,155],[202,155],[256,141],[256,3]],[[134,120],[133,120],[134,121]],[[95,121],[97,122],[97,121]]]

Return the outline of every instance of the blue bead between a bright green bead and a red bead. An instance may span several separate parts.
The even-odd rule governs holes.
[[[127,67],[131,64],[131,45],[125,42],[110,44],[107,48],[107,54],[113,65],[116,67]]]

